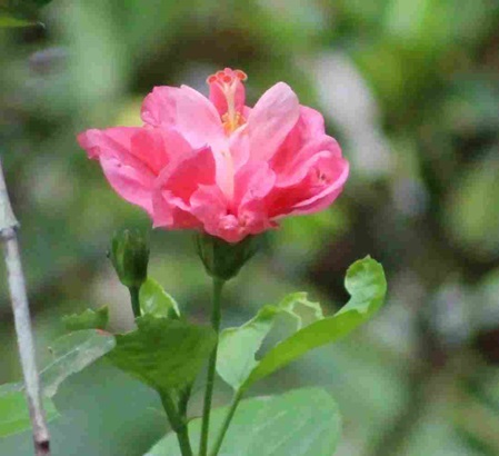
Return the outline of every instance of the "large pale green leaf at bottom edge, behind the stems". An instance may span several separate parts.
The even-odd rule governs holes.
[[[213,442],[227,407],[211,414]],[[192,442],[199,440],[201,420],[189,423]],[[219,456],[331,456],[341,432],[333,398],[319,388],[303,388],[281,396],[241,402]],[[169,434],[144,456],[180,456],[174,434]]]

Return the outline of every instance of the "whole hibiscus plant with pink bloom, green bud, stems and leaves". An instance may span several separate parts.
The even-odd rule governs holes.
[[[345,279],[350,299],[333,315],[323,315],[306,293],[295,293],[263,303],[242,326],[223,327],[224,284],[258,251],[265,231],[278,228],[283,217],[328,208],[349,174],[318,111],[301,106],[283,82],[248,107],[246,80],[240,70],[218,71],[207,79],[209,97],[187,86],[157,87],[143,101],[142,126],[78,136],[110,186],[142,208],[153,228],[193,231],[212,280],[211,325],[190,321],[182,304],[148,275],[144,234],[117,232],[109,256],[130,291],[136,329],[108,331],[106,308],[68,316],[72,331],[56,340],[54,360],[41,373],[48,415],[57,414],[50,399],[59,384],[104,356],[159,395],[171,433],[150,456],[335,453],[341,425],[329,393],[309,387],[251,397],[250,389],[368,320],[385,301],[385,274],[370,257],[351,265]],[[292,323],[286,335],[272,333],[280,319]],[[220,380],[233,398],[213,408]],[[204,391],[199,413],[188,407],[194,383]]]

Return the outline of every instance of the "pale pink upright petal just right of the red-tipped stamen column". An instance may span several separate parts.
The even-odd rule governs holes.
[[[269,160],[297,123],[299,113],[298,98],[288,85],[278,82],[267,90],[248,118],[250,159]]]

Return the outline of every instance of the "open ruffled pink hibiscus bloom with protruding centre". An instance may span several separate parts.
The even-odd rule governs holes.
[[[322,116],[278,82],[253,108],[247,76],[210,76],[209,98],[188,86],[156,87],[142,127],[79,135],[112,188],[143,208],[154,227],[198,229],[229,242],[322,210],[340,195],[348,161]]]

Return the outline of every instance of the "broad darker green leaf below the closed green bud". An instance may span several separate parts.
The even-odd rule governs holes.
[[[190,385],[217,341],[214,331],[183,320],[143,315],[138,329],[116,336],[108,358],[158,391]]]

